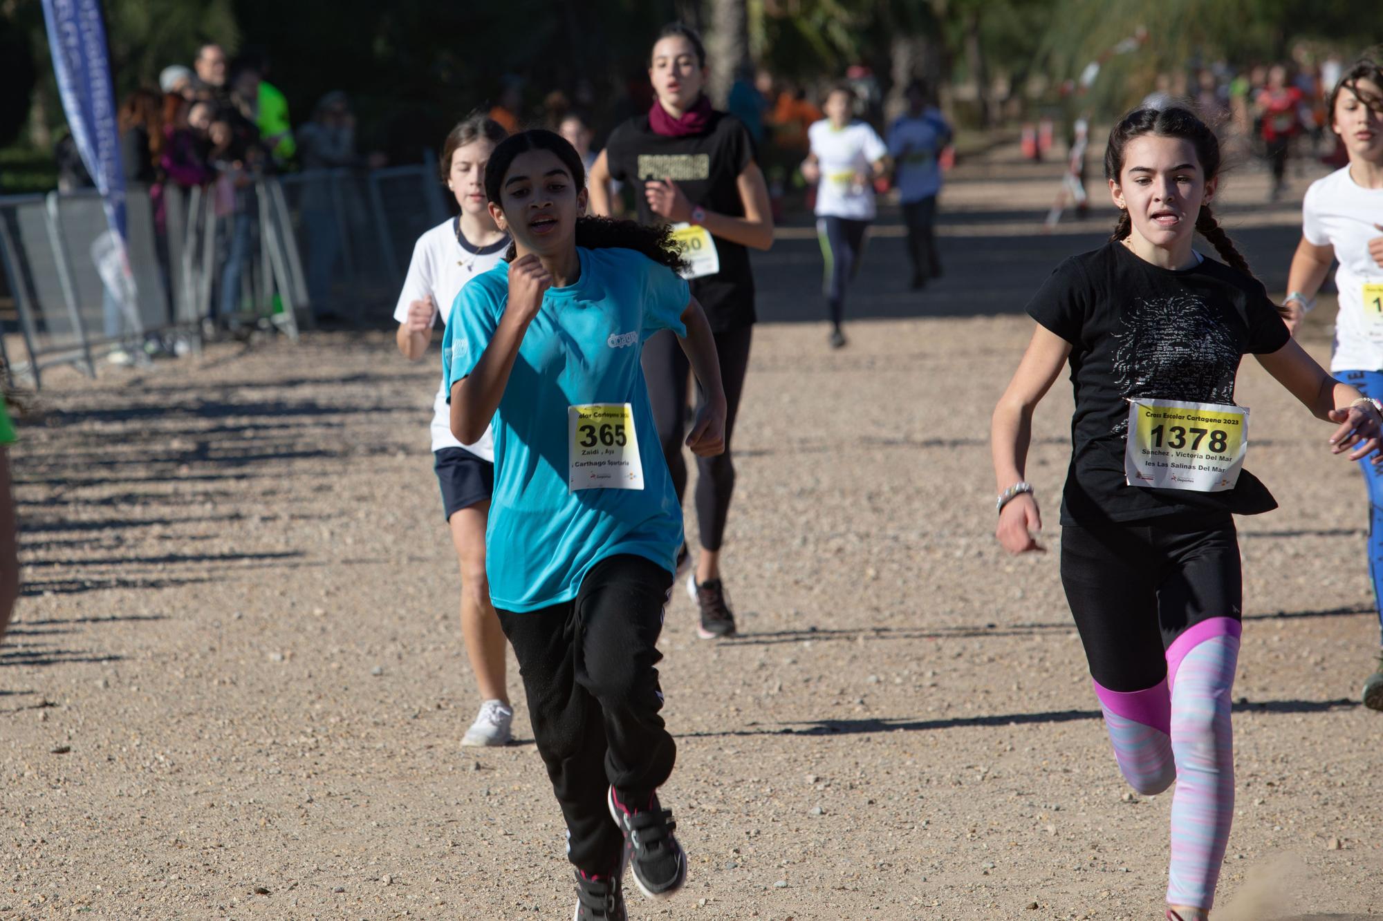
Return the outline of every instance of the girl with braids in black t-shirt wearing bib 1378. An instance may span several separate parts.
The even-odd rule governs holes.
[[[1070,365],[1076,391],[1061,578],[1115,758],[1135,790],[1173,780],[1167,918],[1209,917],[1234,816],[1231,686],[1242,579],[1232,513],[1275,508],[1241,470],[1239,360],[1333,423],[1333,454],[1380,447],[1379,405],[1336,383],[1288,335],[1210,213],[1214,134],[1181,108],[1138,109],[1109,134],[1119,225],[1052,272],[1028,306],[1028,351],[994,409],[997,537],[1040,550],[1023,466],[1032,413]],[[1228,263],[1192,249],[1200,232]]]

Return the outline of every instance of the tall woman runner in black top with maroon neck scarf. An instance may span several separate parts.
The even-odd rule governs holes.
[[[697,458],[696,513],[701,556],[687,577],[687,592],[701,608],[703,639],[734,633],[721,585],[721,542],[734,491],[730,438],[750,365],[754,329],[754,275],[745,248],[773,243],[763,173],[754,162],[754,141],[733,115],[716,112],[703,93],[705,48],[685,25],[662,29],[649,64],[657,100],[647,115],[618,126],[591,167],[591,209],[609,216],[610,180],[631,183],[639,220],[679,225],[692,261],[692,293],[705,310],[721,355],[721,379],[729,413],[725,454]],[[678,496],[686,491],[682,438],[687,420],[687,361],[676,339],[658,333],[643,348],[643,373],[662,454]],[[697,394],[700,405],[703,394]],[[679,559],[679,564],[686,555]]]

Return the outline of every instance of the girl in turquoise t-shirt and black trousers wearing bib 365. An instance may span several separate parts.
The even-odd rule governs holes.
[[[585,169],[567,141],[526,131],[501,142],[485,196],[513,249],[452,307],[451,429],[469,443],[494,423],[490,592],[566,817],[574,917],[624,921],[626,859],[650,897],[686,881],[657,797],[676,745],[654,668],[682,513],[643,343],[671,329],[707,393],[687,436],[698,455],[723,449],[725,389],[671,231],[582,217]]]

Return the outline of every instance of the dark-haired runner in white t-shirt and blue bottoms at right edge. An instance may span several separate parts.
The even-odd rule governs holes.
[[[1339,314],[1330,372],[1373,397],[1383,397],[1383,64],[1361,58],[1330,93],[1330,130],[1348,152],[1348,166],[1317,180],[1301,203],[1301,242],[1288,275],[1296,332],[1311,310],[1330,263],[1339,260],[1335,288]],[[1359,461],[1369,487],[1369,573],[1383,618],[1383,466]],[[1383,711],[1383,653],[1364,683],[1364,703]]]

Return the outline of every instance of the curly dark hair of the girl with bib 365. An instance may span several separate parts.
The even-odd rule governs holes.
[[[513,165],[514,158],[528,151],[548,151],[567,167],[571,181],[577,188],[585,188],[586,167],[581,163],[581,155],[564,137],[544,129],[520,131],[510,134],[501,141],[490,154],[485,165],[485,198],[499,203],[499,192],[505,184],[505,176]],[[609,217],[578,217],[575,245],[586,249],[632,249],[643,253],[660,266],[667,266],[678,272],[686,268],[682,250],[672,242],[672,228],[667,224],[647,225],[636,221],[617,221]],[[509,245],[505,259],[513,261],[514,245]]]

